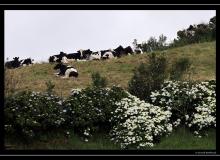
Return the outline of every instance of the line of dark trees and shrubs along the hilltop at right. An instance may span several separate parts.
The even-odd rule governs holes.
[[[133,44],[140,47],[143,52],[151,52],[154,50],[164,50],[173,47],[180,47],[192,43],[209,42],[216,40],[216,16],[209,20],[209,23],[201,23],[190,25],[187,29],[179,30],[177,38],[173,42],[167,44],[167,37],[163,34],[158,40],[155,37],[150,37],[147,42],[137,44],[135,39]]]

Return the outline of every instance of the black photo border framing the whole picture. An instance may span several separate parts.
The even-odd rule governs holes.
[[[138,4],[19,4],[19,5],[1,5],[0,4],[0,26],[1,26],[1,53],[4,53],[4,11],[5,10],[216,10],[218,14],[218,5],[205,4],[186,4],[186,5],[138,5]],[[218,16],[217,16],[218,17]],[[218,23],[218,20],[217,20]],[[218,26],[218,24],[217,24]],[[218,33],[218,32],[217,32]],[[217,36],[218,37],[218,36]],[[218,45],[216,40],[216,53],[218,53]],[[217,56],[216,54],[216,62]],[[4,57],[4,56],[3,56]],[[4,75],[4,58],[1,59],[2,75]],[[217,63],[216,63],[217,64]],[[217,81],[216,68],[216,81]],[[0,156],[1,155],[140,155],[140,156],[216,156],[219,155],[219,138],[216,136],[216,150],[6,150],[4,147],[4,76],[1,76],[1,107],[0,107]],[[217,90],[218,90],[218,85]],[[218,95],[218,94],[217,94]],[[218,103],[217,103],[218,104]],[[218,105],[217,105],[218,106]],[[217,107],[217,115],[219,109]],[[218,131],[217,118],[217,129]]]

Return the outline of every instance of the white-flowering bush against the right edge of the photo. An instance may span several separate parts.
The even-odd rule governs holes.
[[[216,82],[167,81],[151,94],[151,102],[171,110],[174,127],[186,125],[198,135],[216,127]]]

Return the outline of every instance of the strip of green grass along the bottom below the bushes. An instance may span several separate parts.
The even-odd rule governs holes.
[[[179,128],[168,137],[163,137],[159,144],[149,150],[215,150],[216,130],[210,129],[207,134],[208,136],[197,138],[188,129]],[[29,144],[23,144],[19,138],[6,137],[5,144],[11,146],[8,149],[17,150],[120,150],[119,145],[113,144],[104,134],[95,135],[89,142],[84,142],[73,132],[69,138],[65,137],[64,132],[48,133]]]

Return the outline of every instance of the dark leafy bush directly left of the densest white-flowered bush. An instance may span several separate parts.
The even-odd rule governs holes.
[[[89,87],[73,90],[65,101],[66,126],[73,127],[83,136],[96,131],[108,132],[111,128],[109,119],[116,108],[115,102],[126,97],[127,93],[116,86],[112,88]]]

